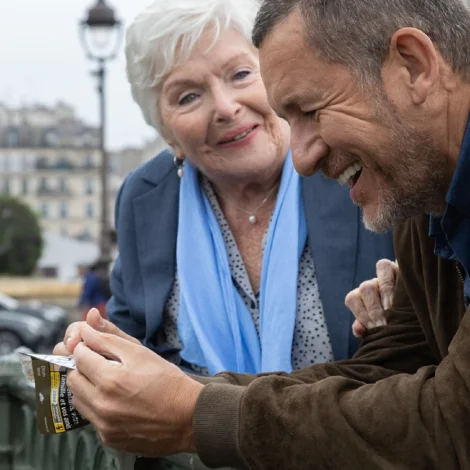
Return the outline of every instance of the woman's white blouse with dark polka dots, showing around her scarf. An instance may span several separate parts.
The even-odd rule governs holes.
[[[254,293],[248,273],[238,250],[230,226],[220,209],[211,184],[202,179],[203,189],[220,225],[222,237],[227,248],[228,262],[234,285],[253,317],[259,334],[259,293]],[[179,283],[176,273],[175,282],[163,313],[163,338],[161,345],[182,349],[178,335]],[[307,242],[299,262],[297,284],[297,318],[292,343],[292,368],[301,369],[314,363],[333,361],[333,350],[328,334],[323,305],[320,299],[315,266]],[[195,373],[208,375],[208,370],[190,365]]]

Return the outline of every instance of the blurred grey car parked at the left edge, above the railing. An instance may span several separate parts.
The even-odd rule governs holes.
[[[68,314],[58,306],[21,303],[0,293],[0,354],[19,346],[51,352],[62,340],[67,325]]]

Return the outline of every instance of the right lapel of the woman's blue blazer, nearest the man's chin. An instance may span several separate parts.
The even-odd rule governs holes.
[[[302,179],[310,249],[335,360],[348,357],[351,313],[344,296],[354,288],[358,211],[349,188],[317,173]]]

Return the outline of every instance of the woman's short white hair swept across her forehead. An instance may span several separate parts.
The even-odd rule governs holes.
[[[156,0],[137,15],[126,34],[126,72],[148,124],[161,132],[162,78],[189,58],[204,30],[214,27],[214,43],[227,28],[251,42],[258,9],[258,0]]]

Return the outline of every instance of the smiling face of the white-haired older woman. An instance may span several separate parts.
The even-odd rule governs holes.
[[[208,30],[164,79],[164,137],[209,179],[266,178],[282,167],[289,127],[268,104],[256,49],[232,29],[212,42]]]

